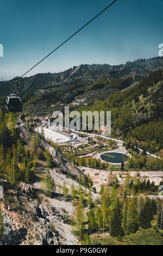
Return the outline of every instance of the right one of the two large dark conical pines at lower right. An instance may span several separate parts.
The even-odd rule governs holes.
[[[143,229],[151,228],[151,221],[151,206],[147,200],[140,215],[140,227]]]

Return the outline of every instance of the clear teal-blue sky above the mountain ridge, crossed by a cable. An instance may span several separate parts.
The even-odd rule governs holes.
[[[0,80],[21,76],[112,0],[1,0]],[[118,0],[32,70],[59,72],[79,64],[126,63],[158,56],[163,0]]]

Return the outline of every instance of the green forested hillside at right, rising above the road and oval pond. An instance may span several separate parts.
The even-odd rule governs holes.
[[[155,153],[163,148],[163,79],[155,71],[139,84],[112,94],[105,101],[77,108],[82,111],[111,111],[111,137],[126,142],[135,139]]]

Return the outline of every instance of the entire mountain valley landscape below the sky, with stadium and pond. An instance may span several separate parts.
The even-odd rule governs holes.
[[[161,62],[27,78],[24,113],[0,115],[1,245],[162,244]],[[53,125],[65,106],[111,111],[110,136]]]

